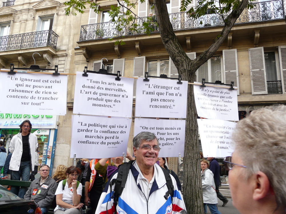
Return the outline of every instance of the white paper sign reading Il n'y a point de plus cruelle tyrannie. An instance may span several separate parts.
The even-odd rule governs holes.
[[[194,97],[199,117],[238,121],[237,90],[194,85]]]

